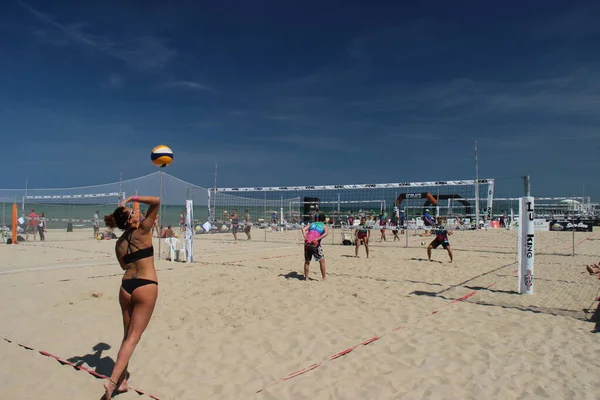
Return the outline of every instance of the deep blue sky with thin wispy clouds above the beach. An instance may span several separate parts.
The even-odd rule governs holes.
[[[202,186],[464,179],[477,140],[498,195],[600,197],[600,2],[451,3],[2,2],[0,186],[157,144]]]

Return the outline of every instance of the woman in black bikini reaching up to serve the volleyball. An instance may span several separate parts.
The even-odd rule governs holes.
[[[125,206],[131,201],[149,205],[143,222],[140,223],[139,216]],[[122,393],[129,390],[127,366],[135,346],[150,322],[158,297],[152,227],[156,221],[159,205],[159,197],[129,197],[112,215],[104,217],[106,226],[124,231],[117,240],[115,252],[121,268],[125,270],[119,289],[119,304],[123,314],[123,342],[112,375],[104,383],[103,399],[105,400],[111,399],[115,391]]]

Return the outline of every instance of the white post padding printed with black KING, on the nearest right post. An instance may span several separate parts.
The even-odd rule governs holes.
[[[533,197],[519,198],[519,293],[533,294],[535,259],[535,208]]]

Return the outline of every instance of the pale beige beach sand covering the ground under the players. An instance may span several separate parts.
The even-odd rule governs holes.
[[[442,249],[427,262],[431,238],[412,232],[408,248],[374,232],[371,258],[353,258],[335,231],[325,282],[315,262],[314,280],[298,279],[299,232],[239,236],[198,235],[194,263],[157,261],[132,387],[159,399],[600,398],[600,336],[584,311],[598,304],[585,264],[600,260],[600,233],[577,233],[574,257],[571,233],[536,233],[533,295],[515,293],[515,231],[457,232],[454,264]],[[122,337],[114,244],[50,231],[0,246],[2,399],[100,398],[102,380],[39,351],[110,374]],[[150,397],[116,397],[138,398]]]

